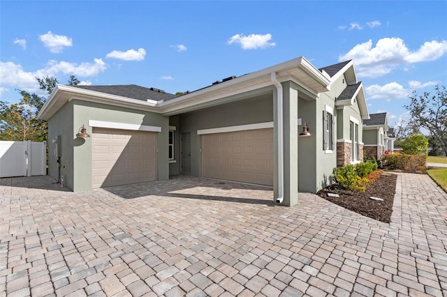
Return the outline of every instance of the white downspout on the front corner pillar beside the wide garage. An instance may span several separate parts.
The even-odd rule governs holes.
[[[278,125],[278,197],[277,203],[284,200],[284,122],[283,122],[283,97],[282,84],[277,80],[277,74],[270,74],[273,85],[277,88],[277,125]]]

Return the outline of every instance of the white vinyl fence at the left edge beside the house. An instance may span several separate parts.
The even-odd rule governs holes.
[[[47,142],[0,142],[0,177],[47,174]]]

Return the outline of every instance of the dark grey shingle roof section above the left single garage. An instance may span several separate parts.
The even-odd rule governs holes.
[[[174,94],[166,93],[159,89],[145,88],[144,86],[137,86],[136,84],[124,84],[114,86],[75,86],[80,89],[107,93],[126,98],[138,99],[142,101],[150,100],[169,100],[177,97]]]

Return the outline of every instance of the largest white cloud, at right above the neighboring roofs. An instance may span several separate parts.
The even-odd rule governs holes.
[[[339,61],[353,60],[359,77],[379,77],[390,73],[398,66],[409,63],[434,61],[447,52],[447,40],[424,43],[416,52],[411,52],[401,38],[382,38],[375,47],[372,40],[354,46]]]

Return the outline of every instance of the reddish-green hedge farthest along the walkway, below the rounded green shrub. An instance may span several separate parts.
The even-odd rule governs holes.
[[[381,164],[386,169],[402,170],[404,172],[423,172],[427,155],[407,155],[404,153],[390,153],[383,155]]]

